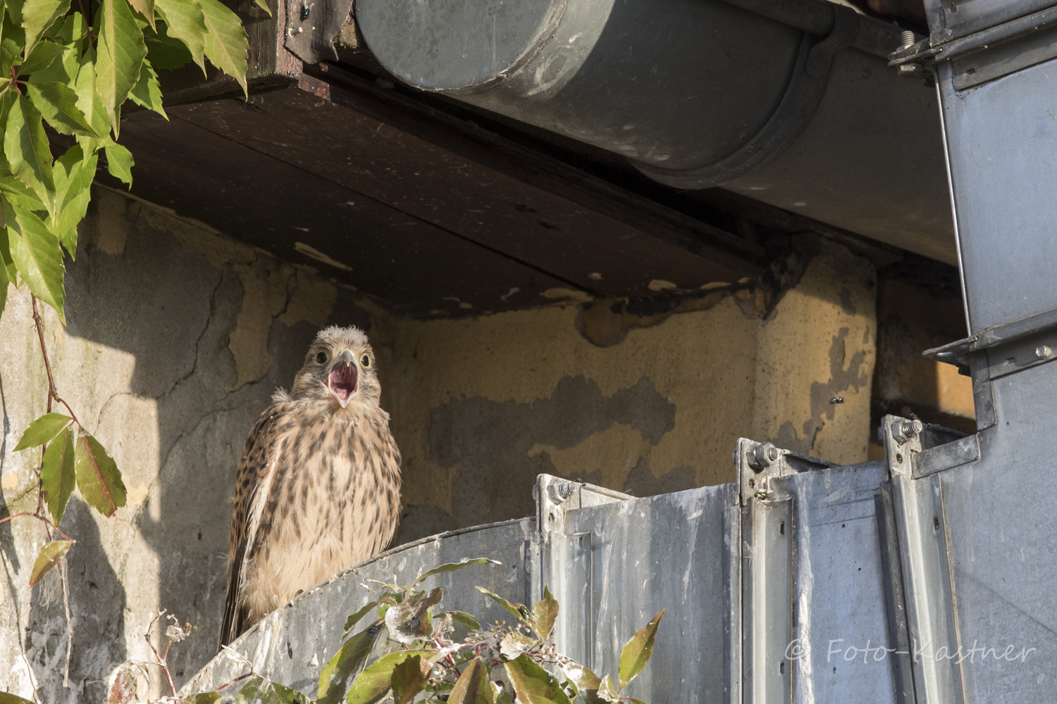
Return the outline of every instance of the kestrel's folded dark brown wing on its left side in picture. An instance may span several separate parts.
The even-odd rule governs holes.
[[[242,578],[247,552],[254,541],[257,521],[254,505],[257,497],[267,492],[268,477],[278,441],[284,403],[273,403],[254,423],[239,461],[235,484],[235,508],[231,512],[231,539],[227,554],[227,600],[224,603],[224,621],[220,627],[220,645],[231,643],[244,630],[245,608],[241,600]]]

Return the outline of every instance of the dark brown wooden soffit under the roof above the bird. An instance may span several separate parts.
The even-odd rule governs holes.
[[[123,123],[134,194],[409,315],[670,294],[761,270],[744,237],[337,69],[168,112]]]

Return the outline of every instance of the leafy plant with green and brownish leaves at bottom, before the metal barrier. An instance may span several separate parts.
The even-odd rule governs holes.
[[[532,609],[477,587],[506,609],[514,621],[482,625],[468,613],[441,608],[444,590],[415,589],[430,575],[487,558],[442,565],[409,587],[379,585],[375,598],[349,616],[344,643],[323,666],[315,700],[251,673],[239,704],[598,704],[627,701],[622,692],[646,666],[664,611],[641,628],[620,652],[617,684],[557,651],[554,625],[558,602],[546,588]],[[374,611],[363,630],[350,635]],[[455,639],[455,624],[469,628]],[[373,661],[372,655],[374,657]],[[227,685],[225,685],[227,686]]]

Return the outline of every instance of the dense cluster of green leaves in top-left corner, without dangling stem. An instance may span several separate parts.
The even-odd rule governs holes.
[[[256,0],[265,11],[265,0]],[[63,254],[91,198],[99,154],[131,186],[117,142],[125,103],[166,117],[157,71],[205,60],[246,90],[248,42],[219,0],[3,0],[0,3],[0,315],[7,283],[63,312]],[[53,158],[44,126],[67,135]]]

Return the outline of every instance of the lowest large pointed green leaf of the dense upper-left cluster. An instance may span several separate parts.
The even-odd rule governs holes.
[[[11,256],[19,274],[38,299],[52,306],[66,324],[62,310],[62,249],[36,213],[4,205]],[[16,227],[13,228],[12,224]]]

